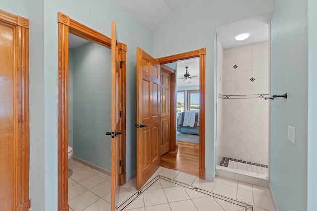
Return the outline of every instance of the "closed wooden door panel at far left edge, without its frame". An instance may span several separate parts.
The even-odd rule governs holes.
[[[13,28],[0,24],[0,210],[13,210]]]

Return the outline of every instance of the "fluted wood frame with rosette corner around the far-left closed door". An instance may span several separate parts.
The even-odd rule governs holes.
[[[13,208],[28,211],[29,200],[29,20],[0,10],[0,22],[13,28]]]

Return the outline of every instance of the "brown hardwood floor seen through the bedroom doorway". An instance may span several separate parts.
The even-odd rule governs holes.
[[[161,156],[160,166],[198,176],[199,144],[177,141],[178,150]]]

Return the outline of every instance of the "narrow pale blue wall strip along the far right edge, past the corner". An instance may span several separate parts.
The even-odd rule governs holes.
[[[308,172],[307,210],[317,208],[317,1],[308,0]]]

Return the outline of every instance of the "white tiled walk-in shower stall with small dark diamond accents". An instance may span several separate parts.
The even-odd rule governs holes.
[[[216,173],[267,186],[269,42],[217,51]]]

